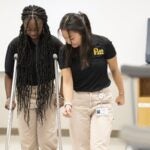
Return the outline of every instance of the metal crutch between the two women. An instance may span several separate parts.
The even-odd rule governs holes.
[[[57,126],[58,126],[58,144],[59,150],[62,150],[62,135],[61,135],[61,119],[60,119],[60,102],[59,102],[59,78],[58,78],[58,61],[57,54],[53,54],[55,68],[55,87],[56,87],[56,105],[57,105]]]

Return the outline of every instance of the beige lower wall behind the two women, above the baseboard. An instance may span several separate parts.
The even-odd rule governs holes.
[[[111,77],[110,77],[111,78]],[[119,130],[124,125],[132,125],[132,111],[131,111],[131,79],[123,76],[124,86],[125,86],[125,97],[126,97],[126,104],[124,106],[117,106],[114,104],[114,121],[113,121],[113,129]],[[134,80],[134,89],[136,88],[136,80]],[[111,85],[113,96],[117,95],[117,90],[112,82]],[[136,91],[135,91],[136,93]],[[8,111],[4,109],[4,102],[5,102],[5,87],[4,87],[4,73],[0,73],[0,128],[7,127],[7,118],[8,118]],[[61,125],[63,129],[68,129],[68,119],[61,117]],[[13,125],[14,128],[17,127],[17,115],[16,110],[14,111],[14,119]]]

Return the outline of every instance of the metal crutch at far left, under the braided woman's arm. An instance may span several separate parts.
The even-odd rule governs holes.
[[[14,54],[14,71],[13,71],[13,80],[12,80],[12,88],[11,88],[11,96],[10,96],[10,103],[9,103],[9,111],[8,111],[8,122],[7,122],[7,135],[6,135],[6,143],[5,143],[5,150],[9,150],[10,145],[10,136],[11,136],[11,127],[13,121],[13,110],[12,108],[12,101],[15,98],[15,89],[16,89],[16,78],[17,78],[17,59],[18,55]]]

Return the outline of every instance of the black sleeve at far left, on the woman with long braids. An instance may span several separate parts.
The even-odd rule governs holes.
[[[14,41],[12,41],[7,48],[6,57],[5,57],[5,73],[12,78],[14,70],[14,54],[16,51]]]

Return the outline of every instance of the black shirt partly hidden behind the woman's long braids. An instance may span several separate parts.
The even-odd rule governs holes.
[[[14,54],[17,53],[17,44],[19,42],[19,37],[14,38],[10,44],[8,45],[6,58],[5,58],[5,73],[12,78],[13,69],[14,69]],[[62,43],[53,35],[51,35],[51,42],[54,45],[53,53],[58,55],[60,47],[62,47]],[[30,40],[30,47],[32,49],[33,54],[33,66],[32,67],[32,81],[31,85],[37,85],[37,71],[36,71],[36,45]],[[53,58],[51,58],[53,59]]]

